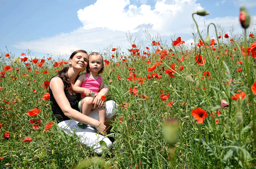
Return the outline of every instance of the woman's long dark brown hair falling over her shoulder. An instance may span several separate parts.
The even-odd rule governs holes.
[[[75,56],[75,54],[80,53],[80,52],[87,54],[87,52],[86,52],[85,50],[76,50],[75,52],[73,52],[73,53],[71,54],[71,56],[69,57],[69,59],[72,59],[72,58]],[[64,88],[67,89],[67,90],[68,90],[69,88],[72,88],[72,87],[71,87],[71,81],[70,81],[69,78],[68,78],[68,69],[69,69],[69,66],[64,67],[62,70],[60,70],[60,71],[57,73],[57,75],[63,80]],[[77,78],[78,78],[78,77],[79,77],[79,76],[77,76]],[[76,78],[76,79],[77,79],[77,78]]]

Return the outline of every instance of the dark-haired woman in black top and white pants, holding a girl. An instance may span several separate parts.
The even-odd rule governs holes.
[[[51,78],[49,82],[49,94],[52,105],[53,117],[57,119],[58,126],[67,133],[76,133],[80,137],[80,141],[86,146],[93,147],[97,154],[102,154],[100,141],[105,141],[109,149],[112,148],[112,142],[109,138],[104,138],[97,130],[102,133],[106,130],[106,125],[98,120],[97,108],[104,105],[101,96],[107,95],[109,88],[104,86],[98,95],[94,98],[94,111],[89,116],[80,113],[78,102],[80,94],[76,94],[72,90],[72,85],[75,84],[77,77],[81,71],[86,69],[88,65],[88,54],[85,50],[76,50],[71,54],[68,60],[69,66],[64,67],[58,74]],[[114,119],[113,107],[115,102],[108,101],[105,103],[106,120]],[[88,127],[83,129],[77,126],[79,122],[88,124]],[[96,129],[97,130],[96,130]]]

